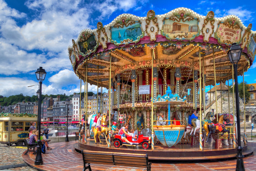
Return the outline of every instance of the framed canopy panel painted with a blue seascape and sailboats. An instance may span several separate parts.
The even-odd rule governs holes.
[[[144,32],[140,22],[131,18],[122,17],[111,27],[111,43],[116,46],[128,43],[137,43],[143,38]]]

